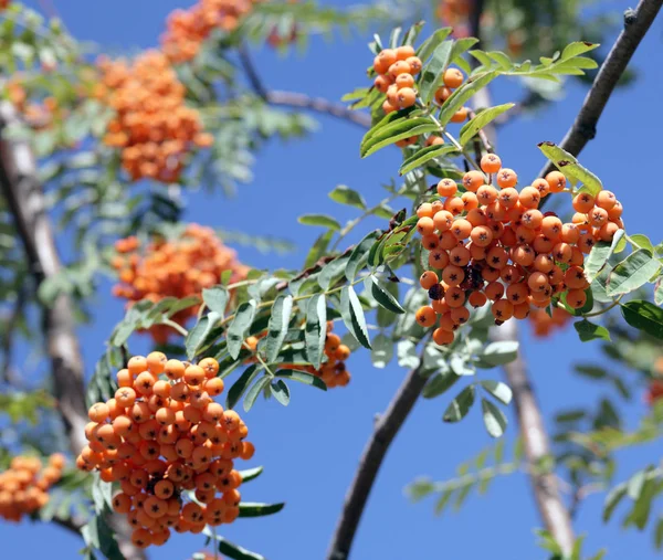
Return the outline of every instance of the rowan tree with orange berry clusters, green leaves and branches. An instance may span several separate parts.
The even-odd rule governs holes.
[[[420,397],[436,399],[451,424],[421,426],[422,446],[453,437],[474,409],[495,443],[452,479],[413,477],[412,500],[434,497],[440,514],[524,473],[549,558],[602,558],[581,550],[576,518],[598,493],[603,522],[621,517],[661,549],[660,454],[628,478],[618,471],[622,453],[660,440],[663,425],[663,243],[638,233],[620,202],[641,189],[641,207],[657,204],[642,184],[655,183],[656,163],[625,145],[624,159],[654,173],[620,184],[610,175],[618,162],[592,172],[580,152],[594,137],[610,141],[599,120],[613,91],[638,80],[629,62],[662,3],[641,0],[615,19],[586,14],[583,2],[198,0],[168,15],[151,49],[93,53],[54,4],[2,2],[2,522],[55,524],[81,537],[88,559],[167,558],[167,542],[193,533],[193,559],[264,560],[260,524],[270,519],[246,518],[277,515],[298,477],[292,457],[262,455],[261,440],[338,414],[354,379],[370,374],[354,360],[369,353],[403,379],[329,527],[329,560],[352,558],[377,474]],[[354,54],[366,72],[341,99],[263,81],[254,47],[291,55],[338,30],[371,36]],[[287,63],[306,72],[296,56]],[[343,61],[329,70],[344,73]],[[541,169],[528,175],[535,147],[503,157],[501,131],[565,103],[573,82],[587,91],[577,118],[560,141],[540,127]],[[496,104],[502,83],[511,101]],[[246,196],[254,158],[270,142],[313,141],[316,114],[365,129],[357,150],[381,151],[385,192],[336,186],[328,197],[339,205],[312,208],[298,225],[274,215],[267,237],[254,235],[251,215],[245,231],[224,229],[224,197]],[[297,172],[284,165],[251,204],[269,208]],[[312,189],[330,187],[312,179]],[[187,213],[202,188],[217,197],[213,223]],[[323,233],[297,247],[297,268],[243,258],[248,245],[294,251],[283,240],[301,226]],[[99,313],[101,293],[122,310],[118,323]],[[107,339],[85,349],[94,363],[80,342],[91,324]],[[536,367],[568,351],[555,337],[571,324],[604,357],[575,356],[575,373],[611,397],[546,419]],[[543,351],[527,348],[522,325]],[[252,431],[261,395],[287,406],[314,389],[341,401],[329,391],[319,419],[270,409],[273,434]],[[644,395],[636,426],[621,415],[634,394]],[[329,447],[354,464],[337,436]],[[249,483],[273,464],[294,474],[274,483],[282,501],[259,501]],[[251,542],[225,537],[235,522],[255,525]],[[293,558],[296,538],[287,536]]]

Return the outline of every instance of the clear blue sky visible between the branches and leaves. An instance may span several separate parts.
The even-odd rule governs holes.
[[[167,13],[179,7],[176,0],[55,0],[53,3],[76,38],[113,50],[155,45]],[[349,6],[343,1],[329,3]],[[628,7],[624,2],[611,6]],[[663,202],[663,192],[655,179],[660,173],[655,163],[660,161],[656,140],[663,117],[654,108],[660,103],[663,82],[662,65],[656,63],[661,60],[662,33],[663,23],[659,20],[633,59],[640,74],[636,86],[621,89],[611,98],[599,124],[598,139],[581,156],[581,161],[622,201],[629,231],[648,234],[655,241],[661,240]],[[303,56],[281,59],[271,50],[262,49],[254,52],[254,59],[269,87],[339,99],[344,93],[366,84],[364,71],[371,60],[365,47],[368,36],[354,34],[349,40],[335,42],[314,38]],[[517,98],[517,89],[509,83],[497,84],[492,93],[495,104]],[[569,85],[566,93],[561,103],[499,130],[499,155],[520,178],[536,176],[544,162],[536,144],[559,140],[580,107],[585,91]],[[255,180],[242,186],[235,199],[225,199],[220,193],[188,194],[186,219],[290,239],[298,249],[287,255],[262,255],[250,247],[238,247],[238,251],[244,262],[256,267],[299,267],[319,232],[299,225],[297,215],[327,212],[339,220],[350,219],[355,213],[344,207],[332,207],[327,192],[344,183],[361,191],[369,203],[376,202],[383,198],[380,183],[396,177],[399,166],[399,155],[393,149],[361,160],[358,145],[362,130],[333,118],[316,118],[320,127],[311,138],[267,145],[257,155]],[[365,231],[368,228],[369,224]],[[122,311],[122,304],[109,295],[109,284],[103,282],[95,303],[96,319],[80,329],[88,373]],[[598,359],[597,348],[591,344],[581,345],[572,329],[543,341],[533,340],[527,328],[524,332],[523,351],[548,419],[560,408],[596,402],[602,394],[614,397],[607,389],[572,376],[571,364],[579,357]],[[141,349],[141,346],[138,341],[134,348]],[[276,516],[241,519],[224,527],[222,532],[230,540],[270,560],[323,557],[357,458],[371,431],[373,415],[386,408],[404,376],[396,364],[373,369],[367,353],[361,352],[348,360],[348,367],[352,382],[346,389],[322,393],[292,387],[287,409],[276,402],[259,401],[244,415],[256,445],[250,464],[265,465],[265,472],[243,488],[243,497],[251,501],[284,500],[287,505]],[[501,378],[498,370],[480,374],[484,379]],[[624,409],[630,425],[644,412],[640,395],[638,390],[634,401]],[[496,480],[487,496],[473,495],[460,514],[445,514],[441,518],[433,516],[430,500],[412,505],[404,497],[403,487],[417,476],[450,478],[460,463],[492,443],[477,410],[459,425],[443,424],[441,416],[449,400],[445,395],[419,402],[399,434],[359,528],[352,552],[355,560],[545,558],[532,533],[540,524],[528,480],[523,475]],[[513,420],[513,414],[509,418]],[[512,422],[507,431],[509,442],[515,434],[516,426]],[[657,461],[660,448],[644,446],[620,458],[618,479]],[[577,531],[588,533],[586,551],[593,553],[607,547],[609,559],[657,558],[651,546],[651,533],[622,531],[618,519],[603,526],[601,505],[602,495],[590,497],[576,519]],[[61,529],[27,522],[0,524],[0,540],[7,558],[54,554],[69,559],[75,558],[82,547],[80,540]],[[181,560],[199,550],[202,543],[200,536],[175,535],[166,547],[154,549],[150,557]]]

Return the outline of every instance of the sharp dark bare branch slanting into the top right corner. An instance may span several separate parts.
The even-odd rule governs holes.
[[[601,65],[573,125],[561,140],[561,148],[577,156],[587,142],[594,138],[597,124],[610,95],[662,6],[663,0],[641,0],[635,10],[624,12],[624,29]],[[554,169],[555,166],[548,162],[539,176],[543,177]]]

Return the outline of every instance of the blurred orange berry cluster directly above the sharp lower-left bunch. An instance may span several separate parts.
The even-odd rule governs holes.
[[[224,271],[232,271],[230,282],[246,277],[249,267],[236,260],[236,253],[214,235],[211,228],[189,224],[175,241],[158,240],[140,252],[140,242],[131,236],[115,244],[112,265],[119,283],[113,287],[117,297],[129,300],[159,302],[165,297],[200,296],[202,289],[219,284]],[[196,316],[198,306],[178,311],[171,320],[185,325]],[[166,342],[172,332],[166,325],[149,329],[156,342]]]

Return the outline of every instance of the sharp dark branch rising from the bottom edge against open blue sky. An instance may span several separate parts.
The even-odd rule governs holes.
[[[408,373],[389,408],[375,423],[373,432],[359,459],[355,479],[346,495],[327,560],[346,560],[350,553],[357,527],[382,461],[425,384],[427,380],[421,376],[420,368],[421,366]]]

